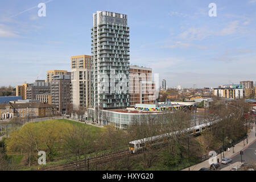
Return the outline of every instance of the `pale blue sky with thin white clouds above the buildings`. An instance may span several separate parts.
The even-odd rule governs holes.
[[[41,2],[46,17],[38,16]],[[97,10],[127,14],[130,63],[152,68],[169,87],[256,81],[256,0],[9,0],[0,2],[0,85],[70,71],[71,56],[90,55]]]

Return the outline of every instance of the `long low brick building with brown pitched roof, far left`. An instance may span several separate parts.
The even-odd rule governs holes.
[[[1,119],[13,118],[41,118],[57,114],[56,106],[47,103],[8,103],[0,104]]]

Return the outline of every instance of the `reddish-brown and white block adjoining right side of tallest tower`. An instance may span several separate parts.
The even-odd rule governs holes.
[[[152,69],[130,66],[129,69],[130,106],[155,103],[155,84]]]

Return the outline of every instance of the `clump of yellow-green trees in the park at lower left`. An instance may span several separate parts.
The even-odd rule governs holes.
[[[96,142],[104,130],[68,119],[26,123],[10,133],[9,138],[3,138],[0,147],[11,169],[38,168],[39,151],[46,152],[47,164],[40,167],[47,168],[82,160],[85,155],[93,156],[96,148],[91,147],[92,142]],[[10,167],[9,164],[6,165]]]

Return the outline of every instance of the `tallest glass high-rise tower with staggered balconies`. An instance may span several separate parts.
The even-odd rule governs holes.
[[[127,15],[108,11],[93,14],[93,106],[129,106],[129,27]]]

